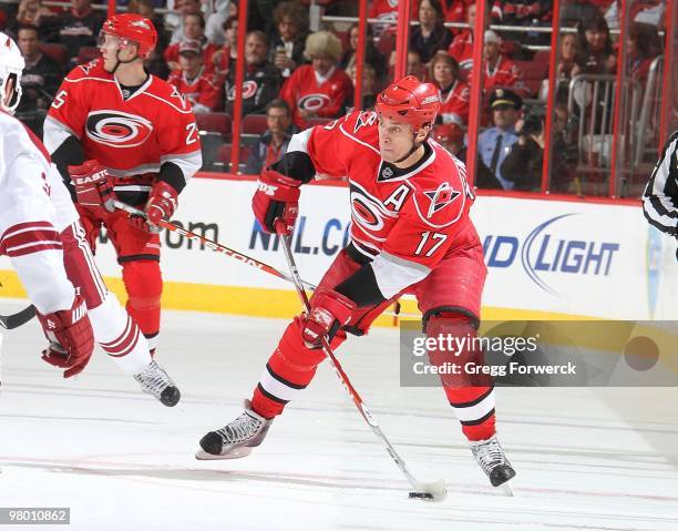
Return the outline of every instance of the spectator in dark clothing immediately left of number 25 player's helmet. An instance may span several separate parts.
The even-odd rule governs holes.
[[[66,47],[69,59],[75,59],[81,48],[96,47],[103,22],[103,14],[92,9],[91,0],[71,0],[71,10],[59,17],[56,42]]]

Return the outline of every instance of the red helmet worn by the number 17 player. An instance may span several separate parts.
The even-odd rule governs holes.
[[[377,98],[374,110],[378,114],[396,122],[409,123],[419,131],[424,124],[433,124],[440,96],[431,83],[423,83],[414,75],[408,75],[390,84]]]

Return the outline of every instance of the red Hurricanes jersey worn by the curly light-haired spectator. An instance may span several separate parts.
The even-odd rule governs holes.
[[[318,82],[310,64],[297,68],[282,85],[282,98],[292,110],[292,120],[298,127],[307,127],[299,111],[311,111],[319,118],[337,118],[347,98],[353,92],[351,79],[341,69],[335,68],[329,78]]]

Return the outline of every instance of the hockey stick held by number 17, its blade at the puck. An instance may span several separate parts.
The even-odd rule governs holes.
[[[287,265],[289,266],[291,278],[292,278],[292,282],[295,283],[295,287],[297,288],[297,293],[301,300],[301,305],[304,306],[305,312],[308,314],[310,312],[310,304],[308,300],[308,295],[306,294],[306,290],[304,289],[304,284],[301,283],[301,278],[299,277],[299,270],[297,269],[297,264],[295,262],[295,257],[291,252],[289,238],[288,236],[285,236],[284,234],[284,225],[281,222],[276,223],[276,231],[278,235],[280,236],[280,239],[282,241],[282,251],[285,252],[285,258],[287,259]],[[415,498],[420,500],[432,500],[432,501],[444,500],[445,497],[448,496],[448,491],[446,491],[444,481],[439,480],[432,483],[421,483],[414,478],[414,476],[412,476],[405,462],[398,455],[398,452],[396,451],[396,448],[393,448],[393,445],[391,445],[389,439],[387,439],[383,431],[381,431],[381,428],[379,427],[379,422],[377,421],[374,416],[372,416],[367,405],[362,401],[362,398],[360,398],[360,395],[358,394],[358,391],[356,390],[356,388],[349,380],[348,376],[341,368],[341,364],[339,364],[339,360],[335,356],[335,353],[332,351],[332,348],[330,347],[329,341],[327,340],[327,337],[321,337],[320,341],[322,345],[322,350],[325,351],[325,355],[330,360],[330,364],[332,366],[332,369],[335,369],[335,374],[337,375],[337,378],[339,378],[339,381],[341,381],[341,384],[343,385],[348,394],[351,396],[351,399],[353,400],[353,404],[358,408],[358,411],[360,412],[362,418],[366,420],[366,422],[370,426],[374,435],[379,437],[379,439],[381,439],[381,442],[384,445],[387,451],[391,456],[391,459],[396,461],[396,464],[398,466],[400,471],[405,476],[405,478],[408,478],[408,481],[414,489],[414,492],[410,492],[410,498]]]

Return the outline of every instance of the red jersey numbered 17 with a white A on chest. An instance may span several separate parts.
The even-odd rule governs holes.
[[[301,140],[300,140],[301,139]],[[474,201],[464,164],[433,140],[414,166],[401,170],[379,154],[377,113],[353,112],[296,135],[316,171],[348,177],[351,242],[373,258],[384,297],[423,279],[448,254],[476,242]]]

